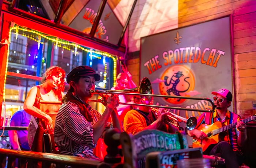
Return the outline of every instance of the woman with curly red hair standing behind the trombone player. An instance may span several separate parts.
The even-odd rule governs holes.
[[[31,149],[33,149],[32,144],[38,124],[43,124],[42,121],[44,121],[44,129],[53,129],[53,120],[49,114],[58,112],[59,105],[46,105],[42,107],[41,102],[61,102],[62,96],[64,96],[64,79],[64,69],[52,66],[44,73],[42,84],[32,87],[28,93],[24,102],[24,109],[32,116],[28,130],[28,140]]]

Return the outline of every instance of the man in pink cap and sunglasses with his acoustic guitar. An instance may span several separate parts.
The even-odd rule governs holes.
[[[216,155],[226,160],[227,168],[238,168],[242,164],[240,147],[247,139],[246,122],[239,115],[229,111],[232,93],[227,89],[211,92],[215,111],[203,113],[197,119],[196,129],[188,131],[193,137],[193,147],[202,147],[205,155]]]

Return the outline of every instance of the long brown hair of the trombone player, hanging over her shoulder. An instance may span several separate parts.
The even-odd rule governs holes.
[[[78,83],[80,77],[77,77],[75,79],[72,79],[76,84]],[[78,105],[78,108],[80,109],[80,113],[86,118],[87,121],[91,122],[93,121],[93,116],[90,115],[90,112],[88,111],[88,108],[86,107],[86,104],[84,104],[82,101],[78,100],[74,95],[74,88],[69,83],[69,90],[66,93],[66,95],[63,96],[62,102],[66,103],[67,101],[71,101]]]

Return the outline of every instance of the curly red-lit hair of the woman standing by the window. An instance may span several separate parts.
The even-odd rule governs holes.
[[[61,74],[60,84],[54,89],[54,93],[58,96],[59,100],[62,98],[62,92],[65,88],[65,76],[66,72],[61,67],[52,66],[46,69],[43,77],[42,83],[45,83],[46,80],[50,79],[52,76],[59,76]]]

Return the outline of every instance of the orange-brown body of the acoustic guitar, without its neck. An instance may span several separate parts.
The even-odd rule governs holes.
[[[212,131],[214,129],[218,129],[221,127],[222,127],[222,124],[219,121],[217,121],[211,125],[201,124],[197,129],[206,133],[207,138],[205,138],[203,140],[195,139],[195,141],[192,144],[193,148],[202,147],[203,152],[204,152],[211,144],[217,144],[219,142],[219,134],[213,135]]]

